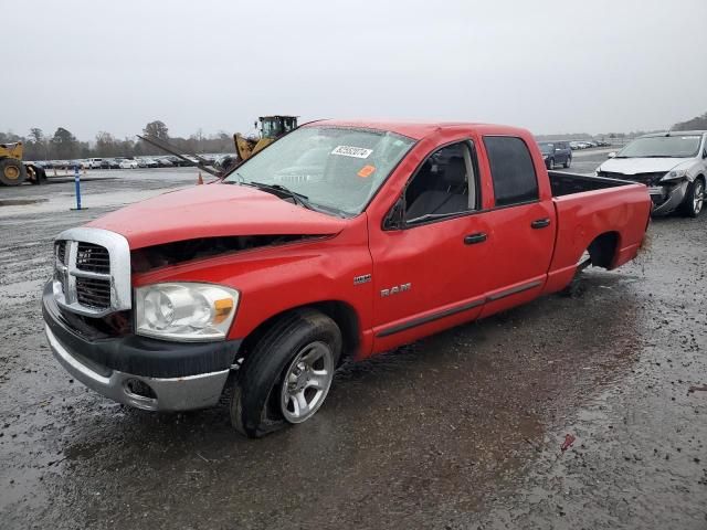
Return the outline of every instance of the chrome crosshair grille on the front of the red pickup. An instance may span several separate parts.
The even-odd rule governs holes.
[[[125,237],[101,229],[62,232],[55,244],[53,290],[73,312],[102,317],[130,309],[130,248]]]

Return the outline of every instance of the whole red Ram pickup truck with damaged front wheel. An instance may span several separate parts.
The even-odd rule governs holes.
[[[59,235],[43,295],[73,377],[262,436],[365,359],[564,288],[641,247],[644,186],[549,172],[524,129],[315,121],[220,182]]]

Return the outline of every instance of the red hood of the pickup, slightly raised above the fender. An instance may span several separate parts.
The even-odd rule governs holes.
[[[130,248],[229,235],[329,235],[346,220],[255,188],[208,184],[168,192],[108,213],[87,226],[124,235]]]

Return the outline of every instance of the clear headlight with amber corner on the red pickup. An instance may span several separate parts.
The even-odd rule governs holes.
[[[135,289],[137,335],[179,341],[225,339],[239,292],[211,284],[155,284]]]

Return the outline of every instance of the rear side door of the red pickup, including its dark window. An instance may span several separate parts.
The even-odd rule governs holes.
[[[557,223],[547,173],[539,182],[526,142],[485,136],[483,144],[494,188],[494,208],[484,213],[490,227],[485,317],[540,294]]]

